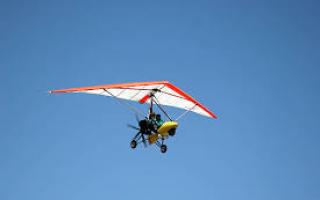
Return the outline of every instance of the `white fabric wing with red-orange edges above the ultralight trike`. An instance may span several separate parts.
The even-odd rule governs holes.
[[[201,103],[168,81],[98,85],[52,90],[50,93],[88,93],[112,96],[140,103],[150,103],[150,95],[153,95],[161,105],[173,106],[190,110],[206,117],[217,118],[215,114],[210,112]]]

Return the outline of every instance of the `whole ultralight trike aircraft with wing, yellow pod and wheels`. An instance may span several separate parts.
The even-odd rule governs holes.
[[[119,100],[121,104],[127,106],[136,114],[138,127],[128,125],[130,128],[137,130],[136,135],[130,142],[132,149],[136,148],[140,143],[143,143],[144,146],[147,146],[147,144],[156,144],[161,152],[165,153],[167,146],[164,144],[164,141],[168,139],[169,136],[175,135],[176,129],[178,128],[178,120],[190,111],[206,117],[217,118],[217,116],[206,107],[169,81],[98,85],[51,90],[50,93],[88,93],[111,96]],[[125,101],[121,101],[121,99],[136,101],[141,104],[149,104],[148,115],[146,116],[139,109]],[[152,117],[155,115],[154,105],[168,118],[168,121],[162,122],[159,126],[156,126],[156,119]],[[173,120],[163,109],[162,105],[181,108],[184,109],[185,112]],[[138,115],[141,115],[144,119],[139,120]],[[160,115],[158,114],[158,116]]]

